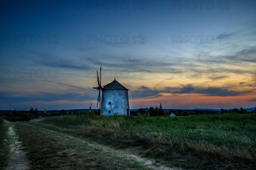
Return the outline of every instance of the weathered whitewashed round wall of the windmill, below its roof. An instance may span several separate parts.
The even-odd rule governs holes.
[[[108,102],[111,102],[109,104]],[[105,90],[102,91],[101,115],[113,116],[114,114],[127,116],[129,109],[129,99],[127,90]],[[108,113],[111,111],[111,113]]]

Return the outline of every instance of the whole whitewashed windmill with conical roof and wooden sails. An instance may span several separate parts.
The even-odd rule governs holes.
[[[113,82],[101,86],[101,68],[100,68],[100,78],[98,76],[98,103],[101,108],[100,114],[105,116],[113,116],[114,114],[120,116],[130,116],[129,99],[128,99],[128,89],[121,85],[116,79]],[[102,98],[100,96],[100,91],[102,91]],[[102,99],[102,100],[101,100]]]

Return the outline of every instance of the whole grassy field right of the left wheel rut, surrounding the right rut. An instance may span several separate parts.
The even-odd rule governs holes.
[[[12,123],[32,169],[147,169],[84,140],[134,152],[167,167],[255,169],[256,114],[178,117],[56,116]],[[64,168],[65,167],[65,168]]]

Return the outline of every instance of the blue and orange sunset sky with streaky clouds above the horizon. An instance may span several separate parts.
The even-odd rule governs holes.
[[[256,107],[256,1],[0,2],[0,110]]]

